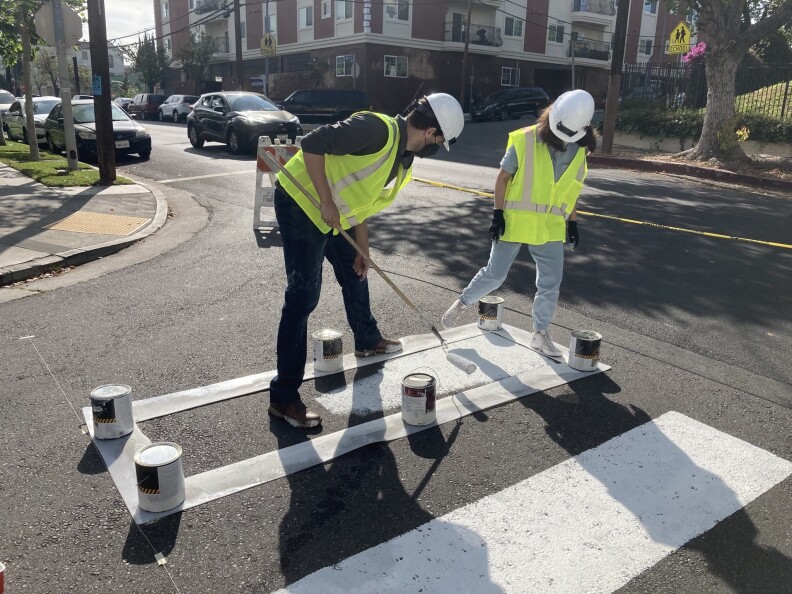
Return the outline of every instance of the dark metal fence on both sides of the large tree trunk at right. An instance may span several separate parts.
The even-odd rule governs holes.
[[[792,67],[740,68],[735,91],[738,113],[792,119]],[[701,108],[707,77],[702,65],[625,64],[619,97],[625,107]]]

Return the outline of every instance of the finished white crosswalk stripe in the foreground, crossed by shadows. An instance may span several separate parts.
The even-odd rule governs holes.
[[[790,474],[669,412],[279,592],[612,592]]]

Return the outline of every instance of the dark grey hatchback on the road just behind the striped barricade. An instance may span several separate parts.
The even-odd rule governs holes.
[[[235,155],[255,148],[259,136],[293,142],[302,133],[296,116],[266,96],[247,91],[201,95],[187,116],[190,144],[201,148],[207,140],[223,142]]]

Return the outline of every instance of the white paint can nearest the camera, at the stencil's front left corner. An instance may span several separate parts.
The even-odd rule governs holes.
[[[184,501],[181,446],[168,441],[135,452],[135,476],[140,508],[151,512],[173,509]]]

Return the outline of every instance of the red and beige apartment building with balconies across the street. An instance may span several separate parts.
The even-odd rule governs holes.
[[[575,86],[604,102],[618,1],[630,2],[625,62],[676,62],[664,48],[685,17],[670,13],[666,0],[248,0],[240,3],[239,32],[233,0],[153,3],[166,51],[188,35],[217,41],[211,78],[226,89],[241,79],[242,88],[262,90],[268,15],[278,50],[268,59],[270,96],[315,86],[358,88],[375,108],[396,113],[416,93],[459,97],[463,86],[468,99],[513,86],[540,86],[554,98],[572,87],[573,71]],[[180,90],[178,80],[170,86]]]

